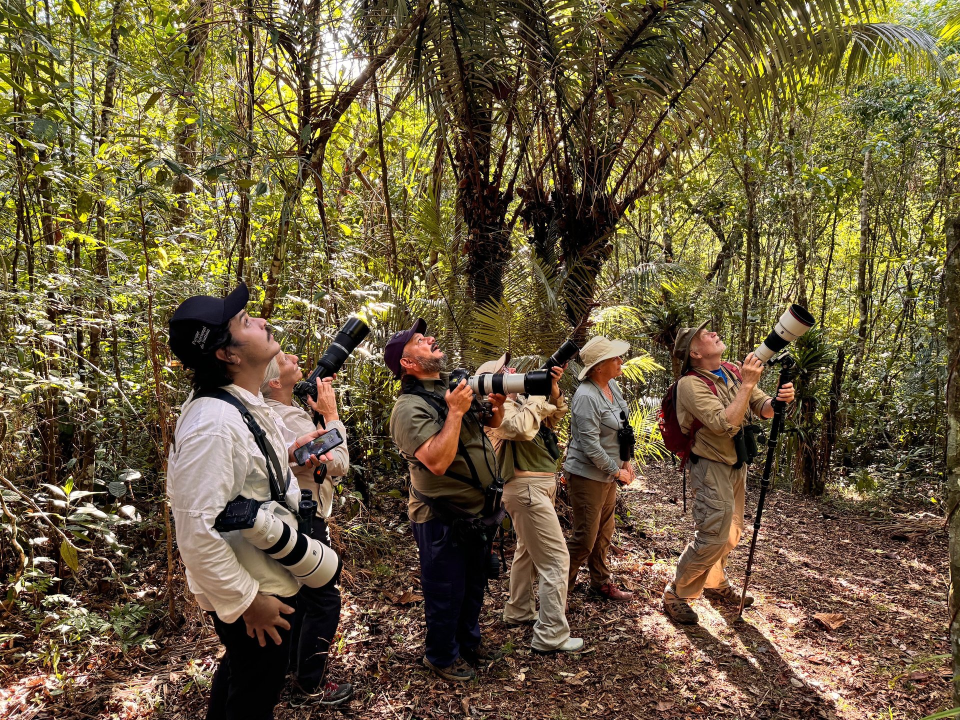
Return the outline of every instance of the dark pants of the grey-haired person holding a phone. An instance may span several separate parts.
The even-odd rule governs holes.
[[[322,517],[313,517],[313,537],[330,544],[330,531]],[[293,669],[305,692],[323,689],[330,643],[340,625],[340,569],[323,588],[300,588],[293,623]]]

